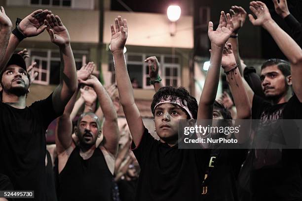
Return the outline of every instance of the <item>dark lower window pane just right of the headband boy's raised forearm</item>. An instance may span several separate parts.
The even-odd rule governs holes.
[[[142,88],[143,85],[143,66],[131,65],[127,66],[129,77],[133,88]]]

